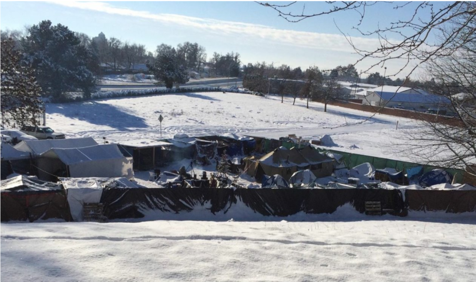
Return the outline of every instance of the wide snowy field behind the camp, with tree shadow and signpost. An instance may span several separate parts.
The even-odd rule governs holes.
[[[176,133],[189,136],[238,133],[269,138],[296,134],[304,138],[319,138],[330,134],[342,146],[337,150],[409,160],[408,154],[392,155],[389,147],[404,135],[402,129],[414,128],[414,120],[376,115],[362,124],[372,113],[341,107],[310,103],[280,97],[263,97],[211,92],[183,93],[135,98],[95,100],[82,103],[49,104],[47,124],[67,137],[90,136],[97,141],[106,137],[110,142],[159,139],[160,114],[162,136]],[[396,123],[399,121],[399,129]],[[337,128],[336,128],[337,127]],[[403,142],[403,141],[402,141]]]

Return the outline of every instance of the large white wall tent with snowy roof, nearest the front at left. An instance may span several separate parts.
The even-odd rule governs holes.
[[[116,144],[74,149],[53,148],[41,154],[37,164],[41,179],[56,176],[130,179],[134,176],[132,158],[124,157]]]

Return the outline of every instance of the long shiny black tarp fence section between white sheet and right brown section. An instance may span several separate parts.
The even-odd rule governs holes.
[[[101,197],[111,220],[142,218],[147,211],[191,212],[202,206],[212,214],[226,213],[237,200],[264,216],[333,213],[346,203],[364,213],[365,201],[380,201],[383,214],[405,215],[400,190],[384,189],[136,188],[104,190]]]

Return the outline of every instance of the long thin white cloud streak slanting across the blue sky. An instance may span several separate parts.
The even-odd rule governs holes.
[[[204,32],[211,32],[220,35],[233,35],[238,37],[247,37],[250,39],[261,38],[273,43],[303,47],[310,49],[332,50],[341,52],[354,52],[347,42],[346,38],[340,34],[326,34],[305,31],[294,31],[286,29],[277,29],[265,25],[250,24],[243,22],[232,22],[215,19],[205,19],[189,17],[176,14],[153,14],[148,11],[137,11],[129,8],[113,6],[105,2],[79,2],[79,1],[51,1],[52,3],[105,12],[109,14],[139,17],[150,19],[164,24],[175,24],[183,27],[192,27]],[[354,37],[354,44],[362,50],[371,50],[379,46],[376,39]]]

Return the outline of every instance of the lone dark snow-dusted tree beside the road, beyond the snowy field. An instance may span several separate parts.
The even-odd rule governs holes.
[[[147,64],[149,71],[154,74],[158,83],[165,83],[165,87],[172,88],[174,83],[188,82],[188,73],[179,63],[179,57],[174,48],[169,52],[161,52],[154,64]]]

